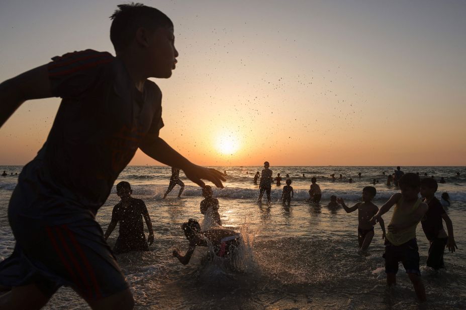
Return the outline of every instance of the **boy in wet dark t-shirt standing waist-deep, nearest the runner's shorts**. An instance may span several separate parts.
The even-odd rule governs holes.
[[[119,235],[113,251],[116,254],[129,251],[148,251],[149,245],[154,242],[154,231],[146,205],[141,199],[131,197],[133,190],[128,182],[122,181],[117,184],[117,195],[121,201],[115,205],[112,212],[112,220],[105,232],[107,240],[118,223],[120,223]],[[146,241],[144,224],[146,221],[149,236]]]

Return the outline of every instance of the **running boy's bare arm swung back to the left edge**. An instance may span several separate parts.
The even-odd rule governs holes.
[[[0,127],[26,100],[53,97],[47,65],[37,67],[0,84]]]

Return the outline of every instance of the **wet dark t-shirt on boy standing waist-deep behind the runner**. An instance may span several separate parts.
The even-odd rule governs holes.
[[[124,208],[122,203],[118,203],[113,208],[112,222],[120,223],[119,239],[144,239],[143,215],[147,214],[147,208],[141,199],[131,198],[131,205]]]

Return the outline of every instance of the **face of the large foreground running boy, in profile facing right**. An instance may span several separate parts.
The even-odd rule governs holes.
[[[154,78],[169,78],[175,69],[178,51],[175,49],[173,28],[159,27],[148,37],[145,63]]]

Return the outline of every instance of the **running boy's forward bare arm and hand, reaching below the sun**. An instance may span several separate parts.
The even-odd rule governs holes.
[[[154,160],[181,169],[188,179],[201,187],[205,186],[205,183],[201,180],[204,179],[209,180],[217,187],[223,188],[222,181],[226,181],[226,179],[220,171],[191,163],[160,137],[155,139],[146,137],[139,147]]]

